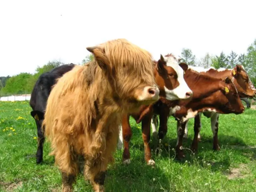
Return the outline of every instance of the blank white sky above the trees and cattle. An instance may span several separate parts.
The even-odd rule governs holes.
[[[0,76],[34,73],[53,59],[81,63],[87,46],[115,38],[156,60],[182,48],[197,58],[246,53],[256,38],[255,7],[255,0],[2,0]]]

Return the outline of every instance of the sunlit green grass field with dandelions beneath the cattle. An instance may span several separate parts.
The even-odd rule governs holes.
[[[49,156],[49,143],[44,145],[44,163],[36,165],[37,129],[26,102],[0,102],[0,191],[60,191],[61,174]],[[185,149],[183,161],[175,159],[176,121],[168,121],[168,133],[161,153],[153,157],[155,168],[146,165],[140,124],[131,119],[131,164],[122,164],[122,150],[115,154],[105,180],[106,191],[256,191],[256,110],[241,115],[220,115],[221,151],[212,151],[210,119],[202,116],[202,141],[198,154]],[[189,148],[193,138],[189,121]],[[167,147],[168,146],[168,147]],[[154,149],[153,149],[154,151]],[[92,191],[80,174],[74,191]]]

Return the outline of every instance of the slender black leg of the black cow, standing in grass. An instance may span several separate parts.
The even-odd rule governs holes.
[[[37,147],[36,158],[37,158],[37,164],[39,164],[43,161],[44,133],[43,133],[43,130],[41,129],[42,123],[40,123],[42,120],[40,120],[40,122],[38,120],[35,120],[35,121],[37,125],[37,136],[38,136],[37,138],[38,147]]]

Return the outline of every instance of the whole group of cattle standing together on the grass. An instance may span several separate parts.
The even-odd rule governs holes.
[[[188,121],[195,119],[191,149],[196,152],[203,113],[211,118],[213,150],[220,150],[219,114],[243,113],[240,97],[251,98],[256,93],[241,65],[204,69],[188,66],[172,54],[154,61],[148,51],[126,39],[86,49],[93,54],[92,61],[84,66],[62,65],[42,74],[30,99],[38,129],[36,163],[43,160],[46,137],[61,171],[62,192],[73,191],[79,157],[84,159],[84,177],[98,192],[104,191],[107,166],[113,162],[118,142],[124,145],[123,162],[131,162],[130,116],[142,122],[145,160],[155,165],[149,145],[151,127],[161,143],[168,117],[173,116],[177,120],[176,153],[183,158]]]

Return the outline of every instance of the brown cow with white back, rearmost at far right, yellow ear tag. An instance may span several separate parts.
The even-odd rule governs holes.
[[[236,67],[234,67],[233,69],[225,69],[225,68],[215,69],[213,67],[204,69],[203,67],[193,67],[193,66],[189,66],[189,68],[201,74],[209,75],[211,77],[218,77],[218,78],[230,77],[232,78],[232,81],[235,84],[240,97],[252,98],[255,96],[256,89],[242,65],[236,65]],[[195,118],[195,125],[194,125],[194,131],[199,141],[201,138],[200,130],[202,126],[201,114],[202,113],[197,114],[197,117]],[[211,118],[211,127],[212,127],[212,134],[213,134],[213,150],[220,150],[220,147],[218,144],[219,114],[215,111],[208,111],[208,112],[204,112],[203,114],[207,118]],[[188,137],[187,125],[188,125],[188,122],[186,123],[185,134],[183,136],[185,138]],[[198,142],[198,140],[197,141],[195,140],[193,143]],[[192,147],[195,151],[197,151],[197,144],[192,145]]]

